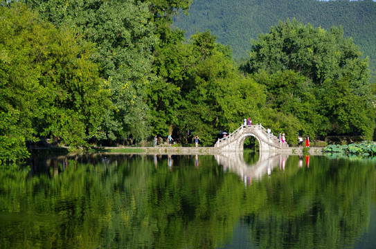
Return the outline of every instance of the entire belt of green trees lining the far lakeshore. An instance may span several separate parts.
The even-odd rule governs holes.
[[[188,0],[25,2],[33,10],[1,6],[3,158],[26,156],[25,141],[40,136],[75,147],[172,133],[211,146],[244,118],[289,143],[297,133],[373,135],[368,57],[343,28],[280,21],[239,71],[211,31],[186,41],[171,28]]]

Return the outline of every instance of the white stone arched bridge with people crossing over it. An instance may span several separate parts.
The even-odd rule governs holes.
[[[281,151],[289,147],[287,142],[280,142],[273,133],[270,133],[268,138],[267,129],[262,127],[261,124],[242,125],[233,133],[230,133],[229,136],[217,140],[214,147],[220,149],[220,151],[243,151],[244,140],[249,136],[253,136],[258,140],[260,152]]]

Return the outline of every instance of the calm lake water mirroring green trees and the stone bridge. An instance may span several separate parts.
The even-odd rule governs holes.
[[[376,160],[227,154],[0,166],[0,248],[375,248]]]

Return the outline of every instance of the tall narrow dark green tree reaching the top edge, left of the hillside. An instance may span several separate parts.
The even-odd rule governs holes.
[[[147,89],[147,103],[151,111],[152,133],[168,136],[179,126],[179,108],[182,104],[182,82],[193,71],[194,57],[190,47],[184,44],[184,31],[172,30],[172,17],[178,10],[186,12],[189,0],[143,1],[152,13],[154,33],[159,42],[153,47],[153,72],[156,82]]]

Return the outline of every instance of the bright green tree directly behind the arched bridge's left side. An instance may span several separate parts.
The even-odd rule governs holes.
[[[196,70],[183,89],[188,104],[181,110],[181,120],[204,145],[213,145],[218,131],[233,131],[244,118],[260,116],[265,89],[239,74],[229,50],[216,44],[209,32],[194,35],[191,47]]]

